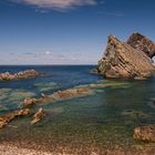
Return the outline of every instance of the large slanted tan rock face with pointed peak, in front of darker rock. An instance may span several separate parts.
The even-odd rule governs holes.
[[[106,78],[146,79],[154,73],[155,66],[144,52],[111,35],[97,71]]]

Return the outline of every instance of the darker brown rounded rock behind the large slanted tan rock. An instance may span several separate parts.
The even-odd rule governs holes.
[[[134,49],[143,51],[149,58],[153,58],[155,55],[155,43],[140,33],[133,33],[130,37],[127,43]]]

